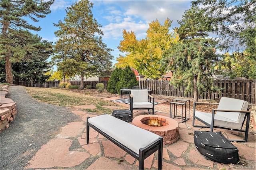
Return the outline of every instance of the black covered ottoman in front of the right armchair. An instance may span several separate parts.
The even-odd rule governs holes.
[[[207,159],[224,164],[238,164],[238,148],[221,132],[195,131],[194,143],[198,151]]]

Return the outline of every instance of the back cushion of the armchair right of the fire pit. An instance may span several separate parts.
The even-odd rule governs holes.
[[[246,111],[248,108],[248,104],[249,103],[244,100],[222,97],[220,98],[218,109]],[[226,117],[227,119],[230,119],[232,121],[236,121],[238,123],[243,123],[245,117],[245,113],[238,112],[216,112],[216,114],[222,117]]]

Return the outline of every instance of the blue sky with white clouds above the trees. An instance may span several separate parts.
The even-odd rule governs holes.
[[[64,20],[66,16],[65,9],[75,0],[55,0],[51,6],[52,13],[46,18],[40,18],[39,22],[31,23],[34,26],[40,26],[41,31],[35,32],[43,40],[56,42],[57,38],[54,32],[58,29],[53,23]],[[93,8],[92,14],[104,33],[103,42],[114,51],[113,64],[116,63],[116,57],[120,54],[117,46],[122,38],[122,30],[134,31],[138,40],[146,37],[148,23],[153,20],[159,20],[164,24],[166,18],[172,20],[172,28],[178,27],[177,20],[182,19],[185,10],[190,8],[190,0],[91,0]]]

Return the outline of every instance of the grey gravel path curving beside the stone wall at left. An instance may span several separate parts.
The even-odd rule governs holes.
[[[70,122],[78,121],[70,109],[40,103],[21,86],[10,86],[6,96],[16,102],[17,115],[0,133],[0,169],[22,170],[43,144]]]

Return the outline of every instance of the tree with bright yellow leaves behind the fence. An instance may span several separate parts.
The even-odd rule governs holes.
[[[119,55],[116,59],[118,61],[116,66],[130,65],[145,77],[160,78],[165,70],[159,61],[162,59],[164,51],[179,40],[175,31],[170,32],[171,24],[172,21],[168,18],[164,25],[161,25],[158,20],[152,21],[148,24],[146,38],[142,40],[137,40],[134,32],[123,30],[124,40],[120,42],[118,49],[125,55]]]

